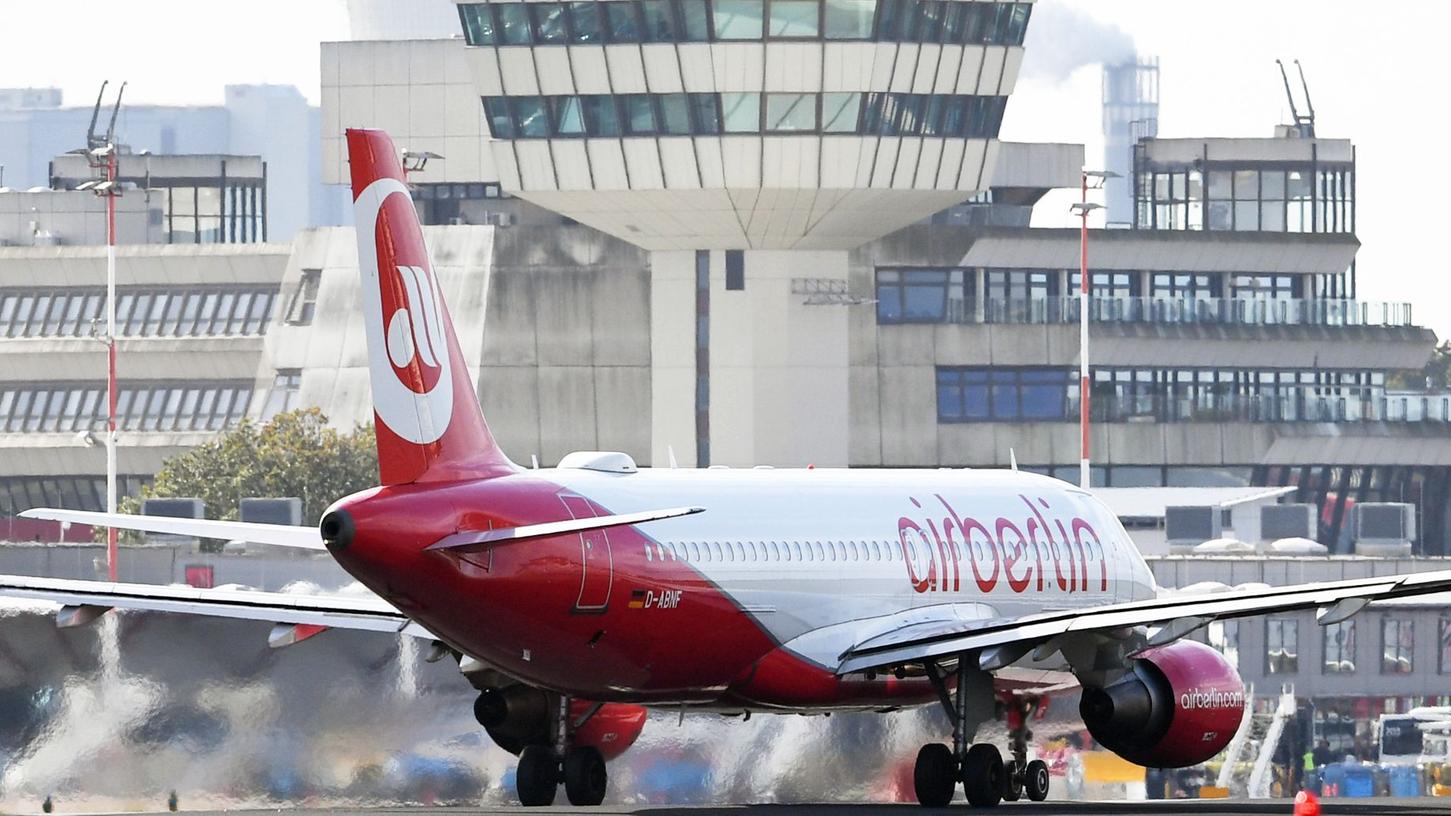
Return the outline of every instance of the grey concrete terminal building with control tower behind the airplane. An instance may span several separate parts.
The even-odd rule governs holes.
[[[1080,235],[1029,224],[1046,193],[1080,186],[1084,150],[997,138],[1032,3],[453,12],[454,36],[324,45],[321,174],[347,183],[350,126],[385,128],[428,157],[412,176],[425,237],[515,460],[1016,460],[1077,481]],[[1287,488],[1315,508],[1310,537],[1339,555],[1355,549],[1357,505],[1409,502],[1413,552],[1448,555],[1451,393],[1407,388],[1436,340],[1410,305],[1357,296],[1357,279],[1378,270],[1357,267],[1352,142],[1283,128],[1139,134],[1129,150],[1126,228],[1088,238],[1094,484]],[[0,247],[4,513],[102,501],[103,452],[86,431],[103,418],[104,354],[87,315],[104,250],[87,235]],[[244,417],[319,405],[338,427],[371,418],[350,228],[128,244],[126,489]],[[1216,579],[1341,569],[1242,560],[1252,575]],[[1165,585],[1206,579],[1183,563],[1164,556],[1155,569]],[[1383,693],[1371,691],[1386,680],[1378,621],[1393,611],[1357,619],[1348,678],[1322,677],[1331,658],[1309,616],[1287,619],[1294,636],[1249,621],[1214,637],[1238,645],[1261,690],[1378,694],[1378,711],[1429,700],[1441,680],[1451,629],[1435,608],[1406,614],[1416,658],[1393,661],[1412,668],[1387,672]],[[1302,643],[1294,662],[1259,665],[1261,650]]]

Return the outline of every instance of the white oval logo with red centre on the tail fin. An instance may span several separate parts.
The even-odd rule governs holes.
[[[438,441],[453,418],[453,366],[438,280],[412,199],[398,179],[379,179],[353,208],[373,409],[411,443]]]

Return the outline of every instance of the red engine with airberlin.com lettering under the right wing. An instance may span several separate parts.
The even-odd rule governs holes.
[[[1185,768],[1233,739],[1245,684],[1223,655],[1180,640],[1140,653],[1117,682],[1085,687],[1078,713],[1088,733],[1119,756],[1149,768]]]

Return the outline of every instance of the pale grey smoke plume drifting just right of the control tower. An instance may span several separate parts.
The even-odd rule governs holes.
[[[1023,77],[1053,83],[1084,65],[1113,65],[1133,60],[1136,52],[1123,29],[1062,0],[1033,6],[1024,45]]]

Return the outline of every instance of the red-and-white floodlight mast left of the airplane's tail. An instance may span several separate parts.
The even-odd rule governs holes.
[[[120,99],[126,93],[126,83],[120,83],[116,91],[116,103],[110,109],[110,122],[106,125],[106,135],[96,134],[96,122],[100,119],[100,105],[106,96],[106,86],[100,84],[96,94],[96,107],[91,110],[90,128],[86,131],[86,161],[93,170],[104,170],[106,181],[91,187],[97,196],[106,199],[106,513],[116,513],[116,196],[120,195],[118,176],[116,150],[116,116],[120,113]],[[119,550],[116,547],[116,529],[106,530],[106,576],[109,581],[118,579]]]

